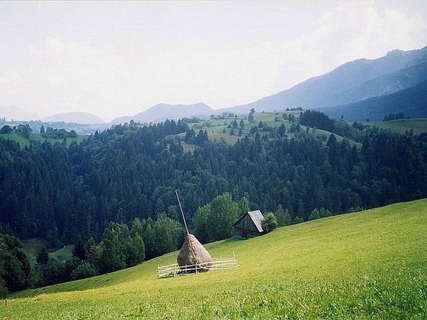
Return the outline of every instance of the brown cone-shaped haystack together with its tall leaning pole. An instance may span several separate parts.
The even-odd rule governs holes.
[[[181,247],[180,252],[178,253],[178,257],[177,257],[178,266],[180,266],[185,273],[197,273],[197,272],[209,271],[209,267],[212,264],[212,257],[211,255],[209,255],[205,247],[202,246],[202,244],[200,244],[198,239],[196,239],[194,235],[191,235],[189,233],[187,222],[185,221],[183,206],[181,206],[181,202],[178,197],[178,191],[175,191],[175,194],[176,194],[176,199],[178,199],[181,215],[183,215],[185,231],[187,231],[187,237],[185,237],[185,242]],[[192,267],[188,268],[187,270],[186,266],[192,266]]]

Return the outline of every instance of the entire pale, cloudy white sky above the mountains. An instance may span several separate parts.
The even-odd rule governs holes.
[[[243,105],[427,45],[427,1],[0,1],[0,106]]]

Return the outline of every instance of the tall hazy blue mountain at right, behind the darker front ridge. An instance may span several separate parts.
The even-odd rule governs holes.
[[[394,94],[426,80],[427,47],[407,52],[393,50],[375,60],[359,59],[345,63],[327,74],[309,78],[291,89],[247,105],[232,107],[229,111],[241,114],[249,112],[251,108],[256,111],[283,110],[287,107],[341,109],[341,106],[346,105],[343,108],[345,111],[349,103]],[[375,111],[371,110],[371,113]],[[427,111],[424,111],[424,114],[427,116]]]

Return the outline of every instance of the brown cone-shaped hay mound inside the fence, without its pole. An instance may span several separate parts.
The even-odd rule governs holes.
[[[196,264],[198,272],[206,272],[211,266],[209,262],[212,262],[212,257],[194,235],[187,234],[177,260],[178,266],[182,267]],[[202,264],[202,266],[199,267],[200,264]],[[196,270],[188,270],[187,272],[195,273]]]

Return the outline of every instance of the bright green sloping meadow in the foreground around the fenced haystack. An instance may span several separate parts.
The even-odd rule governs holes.
[[[427,200],[206,247],[238,268],[157,279],[171,253],[17,292],[0,319],[427,319]]]

